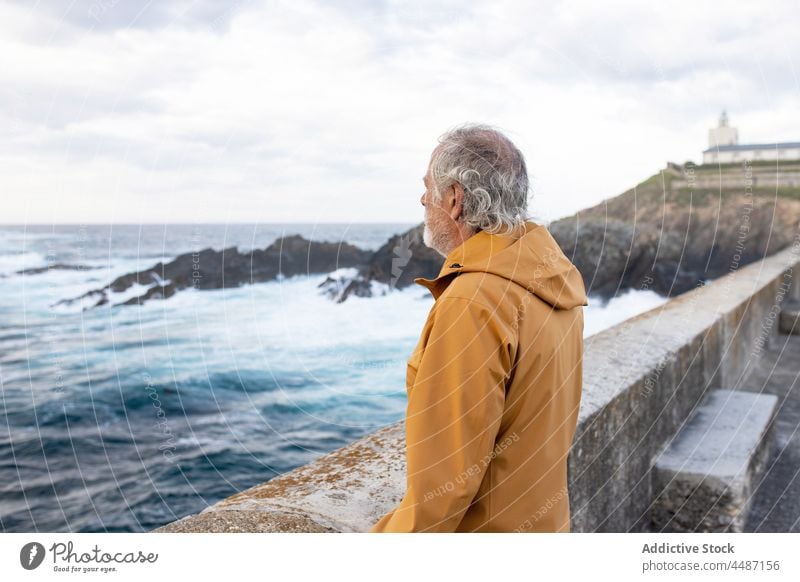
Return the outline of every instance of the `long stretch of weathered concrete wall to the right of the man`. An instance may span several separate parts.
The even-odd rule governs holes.
[[[748,389],[780,304],[800,298],[795,242],[587,339],[569,463],[573,530],[646,530],[652,461],[706,390]]]

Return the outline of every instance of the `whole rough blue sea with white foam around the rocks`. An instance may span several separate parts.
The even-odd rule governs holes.
[[[0,531],[149,531],[402,419],[422,287],[335,303],[306,274],[61,301],[208,247],[300,234],[374,250],[412,226],[0,225]],[[664,301],[590,293],[585,335]]]

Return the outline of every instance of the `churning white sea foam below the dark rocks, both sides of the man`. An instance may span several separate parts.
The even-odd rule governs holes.
[[[102,287],[118,274],[141,268],[128,261],[99,271],[54,271],[0,279],[1,302],[8,308],[18,301],[20,309],[24,303],[32,317],[37,310],[52,310],[50,305],[59,299]],[[89,285],[89,276],[102,282]],[[259,409],[294,405],[317,420],[354,426],[374,422],[370,409],[401,412],[406,359],[419,339],[433,298],[418,285],[401,290],[384,285],[376,291],[385,294],[351,296],[335,303],[319,293],[318,285],[325,277],[303,275],[212,291],[187,289],[166,300],[150,300],[142,307],[117,307],[109,312],[106,306],[82,311],[97,302],[99,296],[93,295],[58,310],[80,312],[81,329],[95,326],[119,330],[85,338],[90,346],[93,341],[113,342],[118,365],[138,357],[138,351],[125,351],[133,337],[153,346],[146,348],[152,350],[147,356],[151,365],[169,369],[170,377],[179,381],[196,383],[198,375],[206,372],[235,371],[247,380],[245,384],[276,384],[277,390],[256,390],[252,396],[248,393]],[[19,286],[23,279],[21,301],[23,290]],[[109,303],[124,302],[147,289],[135,285],[122,293],[111,293]],[[650,291],[629,291],[601,306],[599,300],[590,297],[585,335],[666,300]],[[211,382],[209,389],[214,389]],[[350,406],[363,401],[365,417],[342,420],[341,412],[331,404],[339,399],[350,402]],[[314,410],[315,405],[322,410]]]

